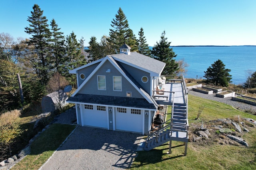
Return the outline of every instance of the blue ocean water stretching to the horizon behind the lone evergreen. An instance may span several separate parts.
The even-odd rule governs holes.
[[[230,69],[233,84],[243,84],[248,78],[248,70],[256,71],[255,46],[231,47],[172,47],[177,54],[175,60],[184,59],[189,66],[185,78],[203,78],[204,71],[220,59]]]

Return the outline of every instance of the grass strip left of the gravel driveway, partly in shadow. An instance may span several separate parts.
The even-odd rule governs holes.
[[[75,125],[52,124],[32,142],[30,154],[12,167],[12,170],[40,168],[75,127]]]

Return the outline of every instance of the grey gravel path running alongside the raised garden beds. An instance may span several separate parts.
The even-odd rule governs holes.
[[[230,106],[233,106],[236,109],[240,109],[240,110],[244,110],[244,111],[250,110],[250,111],[254,111],[256,113],[256,106],[252,106],[250,104],[245,104],[242,102],[237,102],[237,101],[231,100],[231,97],[219,98],[219,97],[216,97],[215,94],[203,94],[200,92],[195,92],[193,90],[189,90],[188,94],[191,94],[193,96],[198,96],[201,98],[205,98],[205,99],[209,99],[209,100],[214,100],[217,102],[222,102],[222,103],[228,104]]]

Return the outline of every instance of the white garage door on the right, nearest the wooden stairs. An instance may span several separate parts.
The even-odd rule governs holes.
[[[139,109],[126,109],[116,107],[116,129],[139,132],[143,130],[143,113]]]

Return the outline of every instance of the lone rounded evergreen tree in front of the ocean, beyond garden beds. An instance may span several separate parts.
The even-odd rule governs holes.
[[[205,82],[207,84],[227,87],[232,79],[231,75],[228,73],[230,71],[230,69],[225,68],[225,64],[219,59],[204,71]]]

